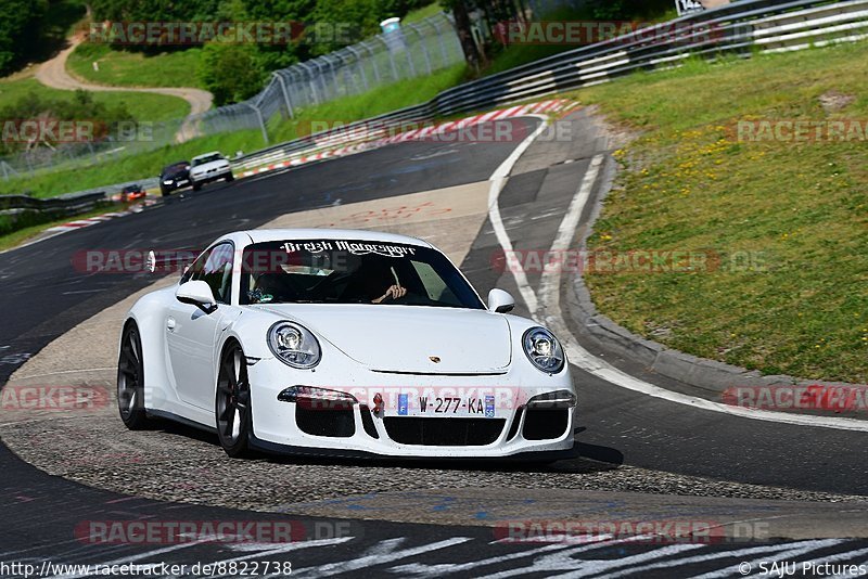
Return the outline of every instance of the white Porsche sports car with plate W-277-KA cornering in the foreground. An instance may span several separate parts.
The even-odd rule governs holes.
[[[216,430],[230,456],[572,455],[563,349],[513,306],[417,239],[230,233],[130,309],[120,417]]]

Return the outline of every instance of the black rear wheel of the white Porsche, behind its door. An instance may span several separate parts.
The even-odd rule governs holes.
[[[117,410],[120,420],[130,430],[141,430],[148,423],[144,408],[144,357],[139,327],[127,324],[120,338],[117,361]]]

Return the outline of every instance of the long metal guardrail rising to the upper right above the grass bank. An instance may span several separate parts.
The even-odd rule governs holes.
[[[607,82],[636,70],[675,67],[689,57],[714,60],[728,54],[750,57],[755,52],[803,50],[865,38],[868,38],[868,0],[745,0],[467,82],[420,105],[269,146],[232,159],[232,168],[247,170],[328,151],[353,141],[356,130],[363,140],[363,129],[372,125],[387,129],[408,119],[426,121],[536,100]],[[145,186],[145,181],[140,183]]]

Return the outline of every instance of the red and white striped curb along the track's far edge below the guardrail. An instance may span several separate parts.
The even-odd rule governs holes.
[[[578,103],[575,101],[571,101],[570,99],[552,99],[549,101],[541,101],[538,103],[519,105],[510,108],[501,108],[498,111],[492,111],[481,115],[474,115],[472,117],[462,118],[460,120],[451,120],[448,123],[441,123],[439,125],[433,125],[431,127],[425,127],[422,129],[409,130],[407,132],[401,132],[400,134],[395,134],[393,137],[388,137],[385,139],[375,139],[372,141],[366,141],[347,146],[342,146],[339,149],[333,149],[331,151],[320,151],[308,155],[289,158],[286,160],[272,163],[269,165],[265,165],[263,167],[257,167],[256,169],[244,171],[239,177],[241,178],[253,177],[254,175],[261,175],[264,172],[273,171],[277,169],[285,169],[286,167],[297,167],[299,165],[315,163],[317,160],[322,160],[326,158],[336,158],[346,155],[352,155],[354,153],[360,153],[362,151],[371,151],[372,149],[378,149],[380,146],[385,146],[393,143],[424,139],[434,132],[439,134],[449,133],[452,131],[467,129],[468,127],[472,127],[480,123],[488,123],[492,120],[499,120],[503,118],[523,117],[526,115],[566,113],[577,106]],[[379,137],[384,132],[385,128],[380,128],[378,130],[372,130],[369,132],[360,130],[360,131],[355,131],[353,133],[353,138],[371,139]]]

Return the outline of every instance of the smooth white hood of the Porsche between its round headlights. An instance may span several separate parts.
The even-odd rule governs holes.
[[[509,322],[487,310],[289,304],[257,308],[305,325],[373,371],[492,374],[505,372],[512,358]]]

